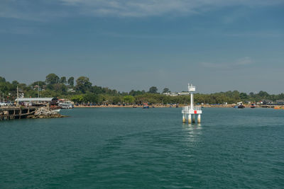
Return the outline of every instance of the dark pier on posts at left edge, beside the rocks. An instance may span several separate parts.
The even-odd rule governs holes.
[[[13,120],[27,118],[28,115],[33,115],[38,107],[0,107],[0,120]]]

